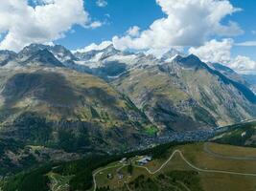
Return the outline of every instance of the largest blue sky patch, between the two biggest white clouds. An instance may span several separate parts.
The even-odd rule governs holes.
[[[91,43],[111,40],[114,35],[122,35],[134,25],[147,29],[154,20],[164,15],[155,0],[108,0],[105,8],[99,8],[96,0],[88,0],[84,2],[84,8],[92,19],[105,21],[105,25],[94,30],[75,26],[75,32],[68,32],[57,43],[70,49],[82,48]]]

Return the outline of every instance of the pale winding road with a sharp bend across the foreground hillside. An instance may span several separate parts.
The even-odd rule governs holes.
[[[239,173],[239,172],[232,172],[232,171],[224,171],[224,170],[210,170],[210,169],[202,169],[202,168],[199,168],[197,166],[195,166],[194,164],[192,164],[190,161],[188,161],[182,154],[182,152],[180,150],[175,150],[173,152],[173,154],[170,156],[169,159],[167,159],[157,170],[155,171],[151,171],[151,169],[149,169],[148,167],[146,166],[139,166],[139,165],[134,165],[135,167],[137,168],[142,168],[142,169],[145,169],[148,171],[149,174],[151,175],[154,175],[158,172],[160,172],[174,157],[175,157],[175,154],[178,154],[181,159],[183,159],[185,161],[186,164],[188,164],[191,168],[193,168],[194,170],[197,170],[198,172],[203,172],[203,173],[219,173],[219,174],[229,174],[229,175],[238,175],[238,176],[248,176],[248,177],[256,177],[256,174],[252,174],[252,173]],[[229,158],[229,159],[236,159],[236,158]],[[240,158],[239,158],[240,159]],[[106,168],[103,168],[103,169],[100,169],[98,171],[96,171],[94,174],[93,174],[93,182],[94,182],[94,191],[96,191],[97,189],[97,181],[96,181],[96,176],[105,171],[105,170],[108,170],[108,169],[112,169],[112,168],[121,168],[121,167],[125,167],[127,166],[128,164],[118,164],[118,165],[113,165],[113,166],[109,166],[109,167],[106,167]]]

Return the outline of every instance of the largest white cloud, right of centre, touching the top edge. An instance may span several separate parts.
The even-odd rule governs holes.
[[[120,50],[166,50],[171,47],[198,46],[212,35],[233,36],[243,31],[235,22],[222,19],[240,9],[227,0],[156,0],[165,17],[155,20],[137,36],[113,37]]]

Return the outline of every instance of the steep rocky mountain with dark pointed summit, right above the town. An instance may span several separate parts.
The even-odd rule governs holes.
[[[129,71],[113,85],[163,128],[193,130],[255,117],[256,96],[197,56]]]

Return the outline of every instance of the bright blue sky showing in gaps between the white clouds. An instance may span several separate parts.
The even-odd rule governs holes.
[[[230,2],[243,11],[225,17],[222,22],[232,19],[244,30],[244,34],[233,37],[236,42],[256,41],[256,1],[231,0]],[[95,0],[88,0],[84,2],[84,8],[90,13],[92,19],[105,21],[105,25],[94,30],[75,26],[73,28],[75,32],[67,32],[66,37],[59,39],[56,43],[75,50],[91,43],[111,40],[114,35],[124,34],[131,26],[136,25],[146,30],[154,20],[165,15],[155,0],[107,0],[105,8],[98,7]],[[256,46],[234,46],[232,55],[238,54],[256,60]]]

